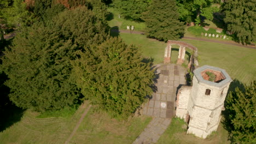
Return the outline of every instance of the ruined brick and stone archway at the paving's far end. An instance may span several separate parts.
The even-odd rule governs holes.
[[[198,61],[197,61],[197,48],[193,45],[187,44],[183,41],[177,41],[177,40],[168,40],[167,46],[165,48],[165,58],[164,58],[164,63],[170,63],[171,62],[171,50],[172,50],[172,45],[179,45],[179,55],[178,55],[178,61],[177,64],[182,64],[184,63],[185,59],[185,48],[188,47],[190,50],[193,50],[193,53],[190,57],[188,68],[190,70],[194,70],[194,67],[191,66],[198,66]]]

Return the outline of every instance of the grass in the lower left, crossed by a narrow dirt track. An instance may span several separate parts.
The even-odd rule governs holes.
[[[87,106],[88,103],[80,106],[74,115],[63,112],[64,117],[57,114],[58,117],[37,118],[39,113],[27,110],[19,122],[0,133],[0,143],[65,143]],[[48,116],[51,115],[54,113]],[[69,143],[132,143],[150,119],[141,116],[119,122],[91,109]]]

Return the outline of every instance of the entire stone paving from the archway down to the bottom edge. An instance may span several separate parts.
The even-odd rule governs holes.
[[[156,70],[156,91],[143,106],[143,114],[153,120],[137,137],[133,144],[155,143],[164,133],[175,115],[176,93],[180,85],[185,85],[185,68],[176,64],[161,64]]]

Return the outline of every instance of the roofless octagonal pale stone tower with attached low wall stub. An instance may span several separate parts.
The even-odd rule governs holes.
[[[217,130],[231,81],[224,69],[204,65],[194,70],[193,86],[182,86],[176,100],[176,116],[188,122],[188,134],[205,139]]]

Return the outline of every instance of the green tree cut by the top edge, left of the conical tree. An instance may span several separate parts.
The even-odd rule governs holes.
[[[118,0],[114,1],[114,5],[126,19],[143,21],[142,13],[148,10],[151,2],[152,0]]]

